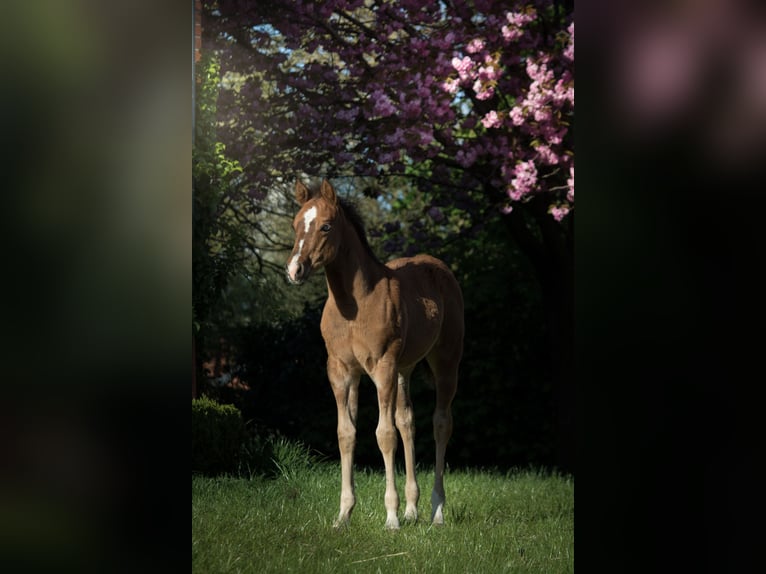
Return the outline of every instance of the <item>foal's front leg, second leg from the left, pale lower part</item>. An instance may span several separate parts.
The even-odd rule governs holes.
[[[394,457],[398,442],[395,426],[398,377],[395,363],[382,359],[371,375],[378,389],[379,415],[375,436],[386,467],[386,528],[397,529],[399,528],[399,495],[396,492]]]

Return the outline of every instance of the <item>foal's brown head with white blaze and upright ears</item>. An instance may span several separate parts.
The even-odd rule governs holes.
[[[295,198],[301,208],[293,220],[295,245],[287,261],[287,278],[299,285],[308,279],[314,268],[335,259],[341,233],[338,218],[338,196],[327,180],[322,181],[318,194],[312,194],[300,181],[295,184]]]

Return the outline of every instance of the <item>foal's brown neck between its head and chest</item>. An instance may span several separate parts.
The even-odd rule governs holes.
[[[338,306],[358,306],[386,275],[386,267],[370,256],[356,233],[347,230],[335,260],[326,266],[327,288]]]

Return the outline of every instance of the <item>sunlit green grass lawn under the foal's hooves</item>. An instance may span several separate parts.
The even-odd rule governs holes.
[[[433,472],[420,470],[420,520],[392,532],[382,470],[358,470],[351,525],[336,531],[338,465],[282,451],[276,478],[192,477],[193,572],[574,571],[571,477],[450,471],[446,525],[433,527]],[[399,474],[400,513],[403,483]]]

